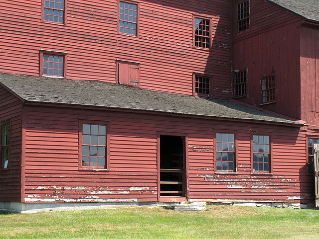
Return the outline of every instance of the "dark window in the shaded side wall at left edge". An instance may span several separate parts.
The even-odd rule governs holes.
[[[1,168],[8,168],[10,158],[10,124],[1,125]]]

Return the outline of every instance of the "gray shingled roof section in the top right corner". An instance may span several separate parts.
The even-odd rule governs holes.
[[[269,0],[307,19],[319,21],[319,0]]]

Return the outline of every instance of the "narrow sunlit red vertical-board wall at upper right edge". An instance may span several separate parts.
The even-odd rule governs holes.
[[[302,118],[319,125],[319,30],[301,27]]]

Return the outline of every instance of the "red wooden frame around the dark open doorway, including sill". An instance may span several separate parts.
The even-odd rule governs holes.
[[[183,189],[184,196],[160,196],[160,136],[180,136],[183,137]],[[157,138],[157,172],[158,172],[158,201],[159,202],[183,202],[189,199],[189,175],[188,175],[188,135],[185,133],[158,131]]]

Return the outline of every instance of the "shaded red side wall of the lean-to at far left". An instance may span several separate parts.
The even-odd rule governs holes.
[[[0,122],[11,124],[10,159],[0,169],[0,202],[20,202],[21,198],[21,101],[0,87]]]

